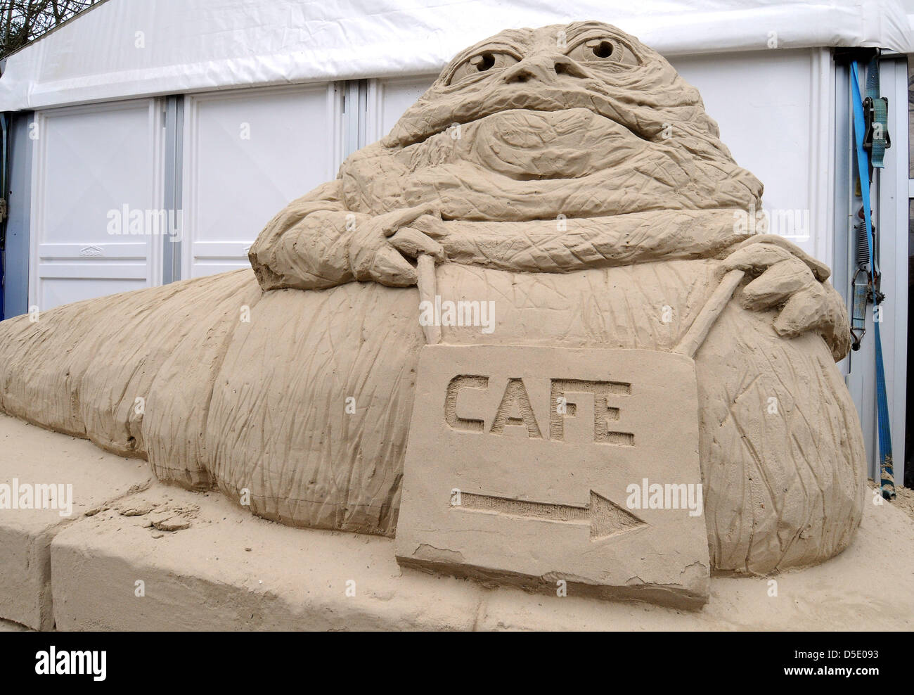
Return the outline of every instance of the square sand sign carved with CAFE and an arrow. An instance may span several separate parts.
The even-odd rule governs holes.
[[[700,607],[710,563],[694,362],[423,348],[396,548],[441,572]]]

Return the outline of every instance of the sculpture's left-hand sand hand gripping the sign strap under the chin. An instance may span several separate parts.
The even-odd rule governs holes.
[[[409,225],[422,216],[436,214],[430,206],[420,205],[360,223],[349,241],[349,264],[356,280],[373,280],[391,287],[416,284],[416,268],[409,259],[428,253],[441,262],[444,250],[425,231]]]

